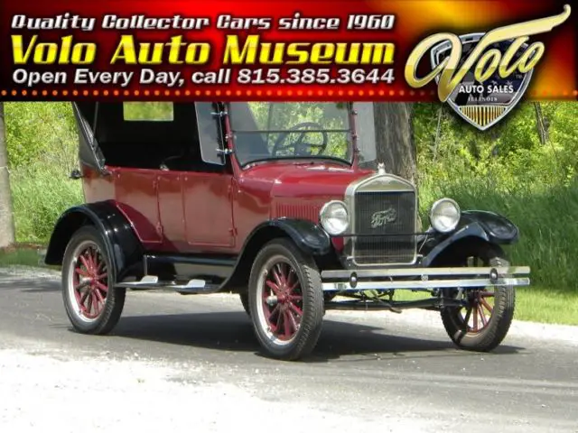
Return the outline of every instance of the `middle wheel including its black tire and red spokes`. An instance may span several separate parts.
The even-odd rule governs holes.
[[[277,268],[277,263],[280,268]],[[279,296],[272,296],[274,290],[266,282],[268,278],[275,279],[273,267],[275,272],[284,272],[285,275],[286,284],[277,286],[277,289],[285,288]],[[263,300],[266,287],[267,299],[277,299],[275,307],[266,305]],[[324,314],[321,275],[312,258],[284,238],[266,244],[257,254],[251,269],[249,309],[256,337],[267,355],[286,361],[310,355],[321,335]],[[278,335],[275,335],[273,327]],[[287,336],[288,331],[293,331],[291,336]]]

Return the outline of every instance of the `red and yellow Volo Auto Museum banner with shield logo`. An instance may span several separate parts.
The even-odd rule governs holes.
[[[480,129],[576,99],[556,1],[0,3],[2,99],[442,101]]]

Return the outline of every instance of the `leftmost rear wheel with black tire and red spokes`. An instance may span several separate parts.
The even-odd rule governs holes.
[[[126,289],[114,287],[114,268],[105,245],[103,236],[94,226],[82,226],[72,235],[64,253],[62,298],[72,327],[82,334],[109,333],[117,325],[125,306]],[[85,262],[79,255],[83,255]],[[87,260],[93,261],[94,267],[84,264],[77,266],[77,262],[86,263]],[[93,271],[88,271],[89,268]],[[98,275],[99,278],[80,277],[77,276],[78,272]],[[82,292],[75,289],[78,286],[76,283],[81,282],[77,281],[80,278],[87,279],[80,289]]]

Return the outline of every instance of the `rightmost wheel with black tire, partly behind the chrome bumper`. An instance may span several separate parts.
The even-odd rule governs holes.
[[[499,247],[490,244],[480,244],[464,252],[462,257],[456,257],[454,266],[467,266],[468,259],[478,258],[474,266],[509,266],[505,253]],[[464,290],[466,292],[466,290]],[[455,297],[457,290],[444,290],[444,295]],[[495,349],[508,334],[514,318],[516,291],[513,286],[496,286],[495,288],[475,288],[468,290],[469,304],[467,308],[442,309],[443,327],[452,342],[464,350],[489,352]],[[493,299],[493,306],[490,305]],[[491,311],[489,308],[491,308]],[[470,314],[468,315],[468,310]],[[486,313],[489,314],[487,318]],[[466,323],[466,320],[467,323]],[[484,323],[485,318],[485,323]],[[470,326],[470,323],[472,324]],[[477,327],[480,325],[481,327]],[[467,327],[466,327],[467,325]]]

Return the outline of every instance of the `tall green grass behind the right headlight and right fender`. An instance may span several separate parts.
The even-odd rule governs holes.
[[[569,186],[520,184],[500,188],[496,180],[465,178],[452,183],[425,182],[421,191],[423,221],[433,200],[454,198],[462,209],[498,212],[516,224],[519,242],[506,245],[510,262],[531,268],[532,284],[578,296],[578,180]]]

